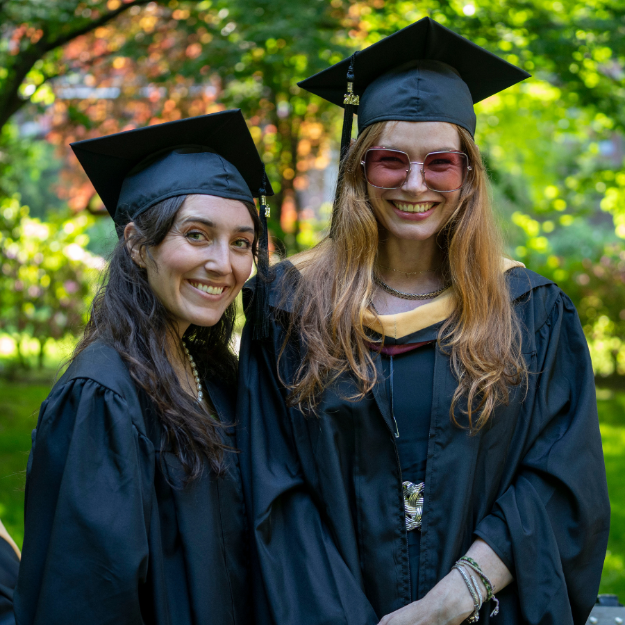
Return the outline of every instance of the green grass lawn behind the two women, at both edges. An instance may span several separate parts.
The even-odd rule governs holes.
[[[21,547],[24,481],[31,431],[50,386],[0,381],[0,517]],[[625,599],[625,392],[597,392],[612,505],[608,555],[600,592]],[[587,487],[592,488],[592,484]]]

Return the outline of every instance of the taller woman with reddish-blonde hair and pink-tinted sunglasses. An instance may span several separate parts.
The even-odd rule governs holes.
[[[527,76],[425,18],[300,83],[345,108],[341,178],[242,339],[259,622],[585,623],[610,519],[590,356],[503,258],[473,139],[474,102]]]

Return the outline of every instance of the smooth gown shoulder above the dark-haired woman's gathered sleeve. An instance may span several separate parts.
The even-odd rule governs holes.
[[[119,352],[100,340],[78,353],[54,385],[53,392],[77,382],[90,382],[126,400],[137,396],[135,383]]]

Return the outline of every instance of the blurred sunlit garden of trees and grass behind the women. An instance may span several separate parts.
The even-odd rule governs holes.
[[[478,104],[476,140],[508,252],[582,320],[612,503],[601,591],[625,599],[625,5],[613,0],[1,2],[0,517],[18,544],[30,431],[115,244],[69,142],[241,108],[277,192],[274,253],[306,249],[329,214],[340,110],[297,81],[424,15],[533,74]]]

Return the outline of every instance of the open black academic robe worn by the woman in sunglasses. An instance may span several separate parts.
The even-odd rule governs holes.
[[[490,619],[485,604],[481,623],[584,624],[610,508],[590,356],[569,298],[523,267],[506,272],[528,383],[512,387],[508,405],[476,435],[451,423],[457,382],[436,345],[415,597],[381,357],[379,382],[364,399],[345,399],[356,390],[346,374],[324,390],[318,416],[288,408],[281,380],[292,381],[304,348],[293,335],[276,365],[292,302],[285,266],[269,294],[269,339],[251,340],[248,324],[240,352],[238,443],[258,623],[376,625],[424,597],[481,537],[515,578],[497,592],[499,615]],[[448,291],[383,317],[386,344],[435,339],[452,302]],[[455,414],[467,424],[460,407]]]

